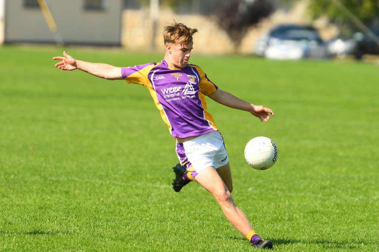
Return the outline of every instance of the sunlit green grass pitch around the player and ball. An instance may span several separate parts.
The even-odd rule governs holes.
[[[130,66],[163,54],[66,48]],[[249,251],[192,182],[171,189],[175,142],[149,92],[54,67],[60,48],[0,47],[0,250]],[[379,250],[379,68],[197,56],[221,89],[275,112],[261,123],[208,100],[236,204],[281,251]],[[272,138],[276,165],[244,160]]]

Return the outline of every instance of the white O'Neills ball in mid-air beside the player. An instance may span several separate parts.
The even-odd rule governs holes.
[[[276,163],[278,149],[270,138],[254,137],[245,147],[245,159],[252,168],[266,170]]]

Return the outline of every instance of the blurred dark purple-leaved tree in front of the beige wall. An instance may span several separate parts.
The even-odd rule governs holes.
[[[247,29],[274,11],[270,0],[230,0],[220,7],[217,17],[219,26],[226,31],[237,51]]]

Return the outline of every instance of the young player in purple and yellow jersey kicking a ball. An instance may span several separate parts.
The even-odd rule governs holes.
[[[272,249],[272,242],[260,238],[246,215],[234,204],[230,194],[233,185],[229,157],[224,140],[207,111],[205,96],[225,106],[250,112],[262,122],[267,122],[269,114],[274,115],[274,112],[222,91],[199,66],[188,64],[193,46],[192,35],[196,32],[197,29],[177,22],[165,26],[166,54],[158,63],[114,67],[80,61],[65,51],[63,57],[53,59],[60,60],[55,66],[62,70],[79,69],[101,78],[124,79],[127,83],[146,86],[176,140],[180,164],[174,167],[174,190],[179,192],[190,181],[198,182],[215,197],[228,221],[252,245]]]

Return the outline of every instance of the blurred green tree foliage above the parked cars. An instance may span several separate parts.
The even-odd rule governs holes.
[[[374,17],[379,16],[379,2],[377,0],[336,0],[345,6],[354,16],[363,23],[371,24]],[[313,17],[326,14],[331,20],[337,18],[351,22],[345,12],[334,0],[311,0],[309,9]]]

